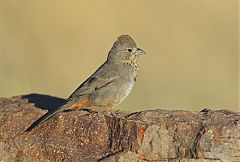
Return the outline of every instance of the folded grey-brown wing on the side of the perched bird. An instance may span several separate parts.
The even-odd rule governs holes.
[[[104,66],[104,65],[103,65]],[[101,66],[92,76],[90,76],[86,81],[84,81],[70,96],[69,99],[73,97],[79,97],[86,94],[91,94],[99,89],[108,86],[115,82],[119,76],[116,71],[111,69],[109,72],[108,68],[103,68]],[[104,70],[103,70],[104,69]]]

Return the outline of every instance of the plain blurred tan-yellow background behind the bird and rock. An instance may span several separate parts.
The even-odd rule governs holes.
[[[237,0],[0,0],[0,96],[66,98],[130,34],[147,54],[118,108],[239,111]]]

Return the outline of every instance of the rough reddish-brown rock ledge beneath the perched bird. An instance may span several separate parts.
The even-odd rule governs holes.
[[[240,114],[228,110],[69,111],[23,133],[63,102],[1,98],[0,161],[240,162]]]

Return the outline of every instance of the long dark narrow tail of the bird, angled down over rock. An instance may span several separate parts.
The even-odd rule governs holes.
[[[57,108],[54,111],[48,111],[46,114],[44,114],[39,119],[37,119],[34,123],[32,123],[32,125],[30,125],[30,127],[28,127],[24,132],[31,131],[33,128],[37,127],[38,125],[42,124],[46,120],[48,120],[51,117],[53,117],[56,113],[64,111],[65,107],[66,107],[66,105],[63,105],[63,106],[60,106],[59,108]]]

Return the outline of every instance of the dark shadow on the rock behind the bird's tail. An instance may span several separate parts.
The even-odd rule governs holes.
[[[63,98],[36,93],[23,95],[22,98],[27,99],[29,103],[34,103],[36,107],[48,111],[53,111],[57,107],[62,106],[67,101]]]

